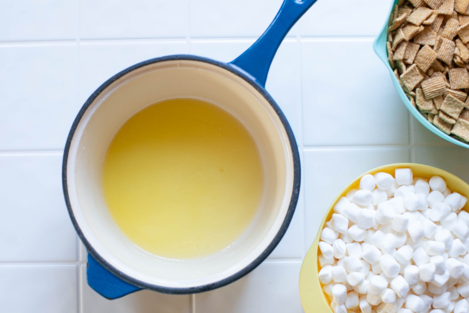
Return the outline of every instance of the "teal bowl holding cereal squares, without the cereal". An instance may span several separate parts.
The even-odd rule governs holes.
[[[396,88],[396,91],[401,98],[402,102],[404,103],[404,106],[408,109],[408,111],[414,115],[417,121],[419,121],[422,125],[424,125],[428,130],[430,130],[432,133],[435,135],[455,144],[455,145],[460,145],[461,147],[468,148],[469,145],[465,144],[457,139],[454,139],[453,137],[446,135],[444,132],[439,130],[436,126],[434,126],[431,122],[428,122],[426,118],[418,110],[412,106],[410,103],[410,100],[407,98],[404,90],[402,89],[401,85],[399,84],[399,81],[397,80],[396,76],[394,75],[393,69],[391,68],[391,65],[389,65],[389,61],[387,60],[387,49],[386,49],[386,41],[387,41],[387,27],[388,27],[388,21],[389,17],[391,16],[391,13],[393,11],[394,6],[398,0],[394,0],[392,2],[391,8],[389,9],[389,13],[386,17],[386,22],[383,26],[383,29],[381,33],[378,35],[378,37],[375,39],[373,43],[373,49],[375,50],[376,54],[378,54],[378,57],[381,59],[381,61],[384,62],[386,65],[386,68],[389,70],[389,73],[391,74],[391,80],[393,81],[394,87]]]

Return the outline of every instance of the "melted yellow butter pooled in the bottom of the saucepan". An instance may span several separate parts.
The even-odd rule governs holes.
[[[102,172],[108,210],[137,246],[171,259],[219,252],[248,228],[264,173],[249,132],[204,101],[173,99],[127,121]]]

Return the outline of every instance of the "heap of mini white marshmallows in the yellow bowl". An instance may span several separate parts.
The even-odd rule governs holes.
[[[410,168],[365,175],[334,206],[319,281],[335,313],[468,313],[468,198]]]

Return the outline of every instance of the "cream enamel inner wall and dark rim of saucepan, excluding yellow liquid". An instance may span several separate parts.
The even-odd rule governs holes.
[[[169,260],[138,248],[113,222],[101,188],[104,157],[121,126],[145,107],[175,98],[201,99],[237,118],[264,166],[256,218],[234,244],[203,259]],[[91,95],[70,130],[62,175],[72,222],[101,265],[139,287],[193,293],[233,282],[272,252],[295,210],[300,160],[285,116],[255,80],[226,63],[176,55],[136,64]]]

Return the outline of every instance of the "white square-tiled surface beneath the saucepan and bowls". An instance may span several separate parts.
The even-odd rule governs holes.
[[[266,88],[295,132],[302,190],[285,237],[238,282],[189,296],[109,301],[86,284],[86,251],[61,191],[61,154],[83,102],[153,57],[231,61],[281,0],[0,1],[0,312],[302,312],[298,274],[319,221],[371,168],[422,162],[469,182],[469,151],[409,117],[371,43],[391,0],[318,0],[290,31]]]

